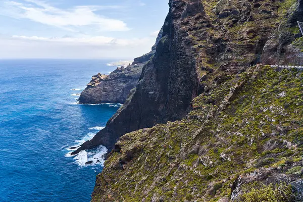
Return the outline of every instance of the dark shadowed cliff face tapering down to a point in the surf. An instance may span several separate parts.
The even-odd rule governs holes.
[[[105,129],[73,154],[100,144],[111,150],[125,133],[179,120],[189,112],[191,99],[197,95],[198,78],[196,62],[189,55],[190,43],[185,40],[187,34],[180,35],[178,31],[179,15],[185,6],[182,3],[178,4],[178,9],[171,6],[155,56],[144,65],[139,82],[125,105]]]

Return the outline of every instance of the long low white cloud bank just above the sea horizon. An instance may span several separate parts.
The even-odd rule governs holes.
[[[40,37],[0,35],[0,58],[27,59],[132,59],[148,53],[154,38],[106,36]]]

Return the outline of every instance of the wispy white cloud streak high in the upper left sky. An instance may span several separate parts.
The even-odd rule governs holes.
[[[97,15],[94,12],[121,9],[119,6],[77,6],[59,9],[38,0],[24,0],[25,3],[4,1],[0,3],[0,15],[16,19],[29,19],[49,26],[68,30],[93,28],[97,31],[127,31],[127,24],[121,20]]]

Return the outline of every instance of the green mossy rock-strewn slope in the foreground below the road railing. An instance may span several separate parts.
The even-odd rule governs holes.
[[[122,136],[92,201],[302,201],[303,73],[261,65],[213,85],[185,119]]]

